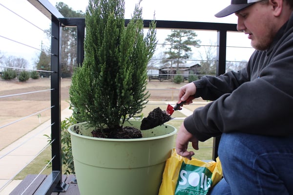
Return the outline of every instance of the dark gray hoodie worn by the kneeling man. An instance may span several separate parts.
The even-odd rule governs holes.
[[[293,136],[293,15],[246,68],[193,83],[195,97],[213,100],[184,121],[200,141],[223,132]]]

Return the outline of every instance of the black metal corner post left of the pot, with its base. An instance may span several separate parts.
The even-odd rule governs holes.
[[[51,38],[51,138],[52,173],[46,177],[35,195],[51,195],[64,192],[68,184],[62,182],[61,151],[61,22],[52,16]]]

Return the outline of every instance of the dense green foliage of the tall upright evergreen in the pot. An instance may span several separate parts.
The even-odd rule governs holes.
[[[117,128],[144,108],[146,67],[157,41],[154,21],[144,36],[139,5],[125,27],[124,0],[89,0],[84,63],[74,71],[69,90],[77,121]]]

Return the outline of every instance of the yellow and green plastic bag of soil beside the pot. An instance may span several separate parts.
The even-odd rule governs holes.
[[[165,165],[159,195],[207,195],[222,176],[219,157],[216,162],[188,160],[173,149]]]

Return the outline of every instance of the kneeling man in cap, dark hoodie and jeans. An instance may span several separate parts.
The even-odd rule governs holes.
[[[221,135],[224,179],[211,195],[293,195],[293,0],[231,0],[216,17],[235,13],[237,30],[256,49],[246,68],[205,76],[180,88],[213,100],[181,125],[176,152]],[[191,102],[188,102],[188,104]]]

